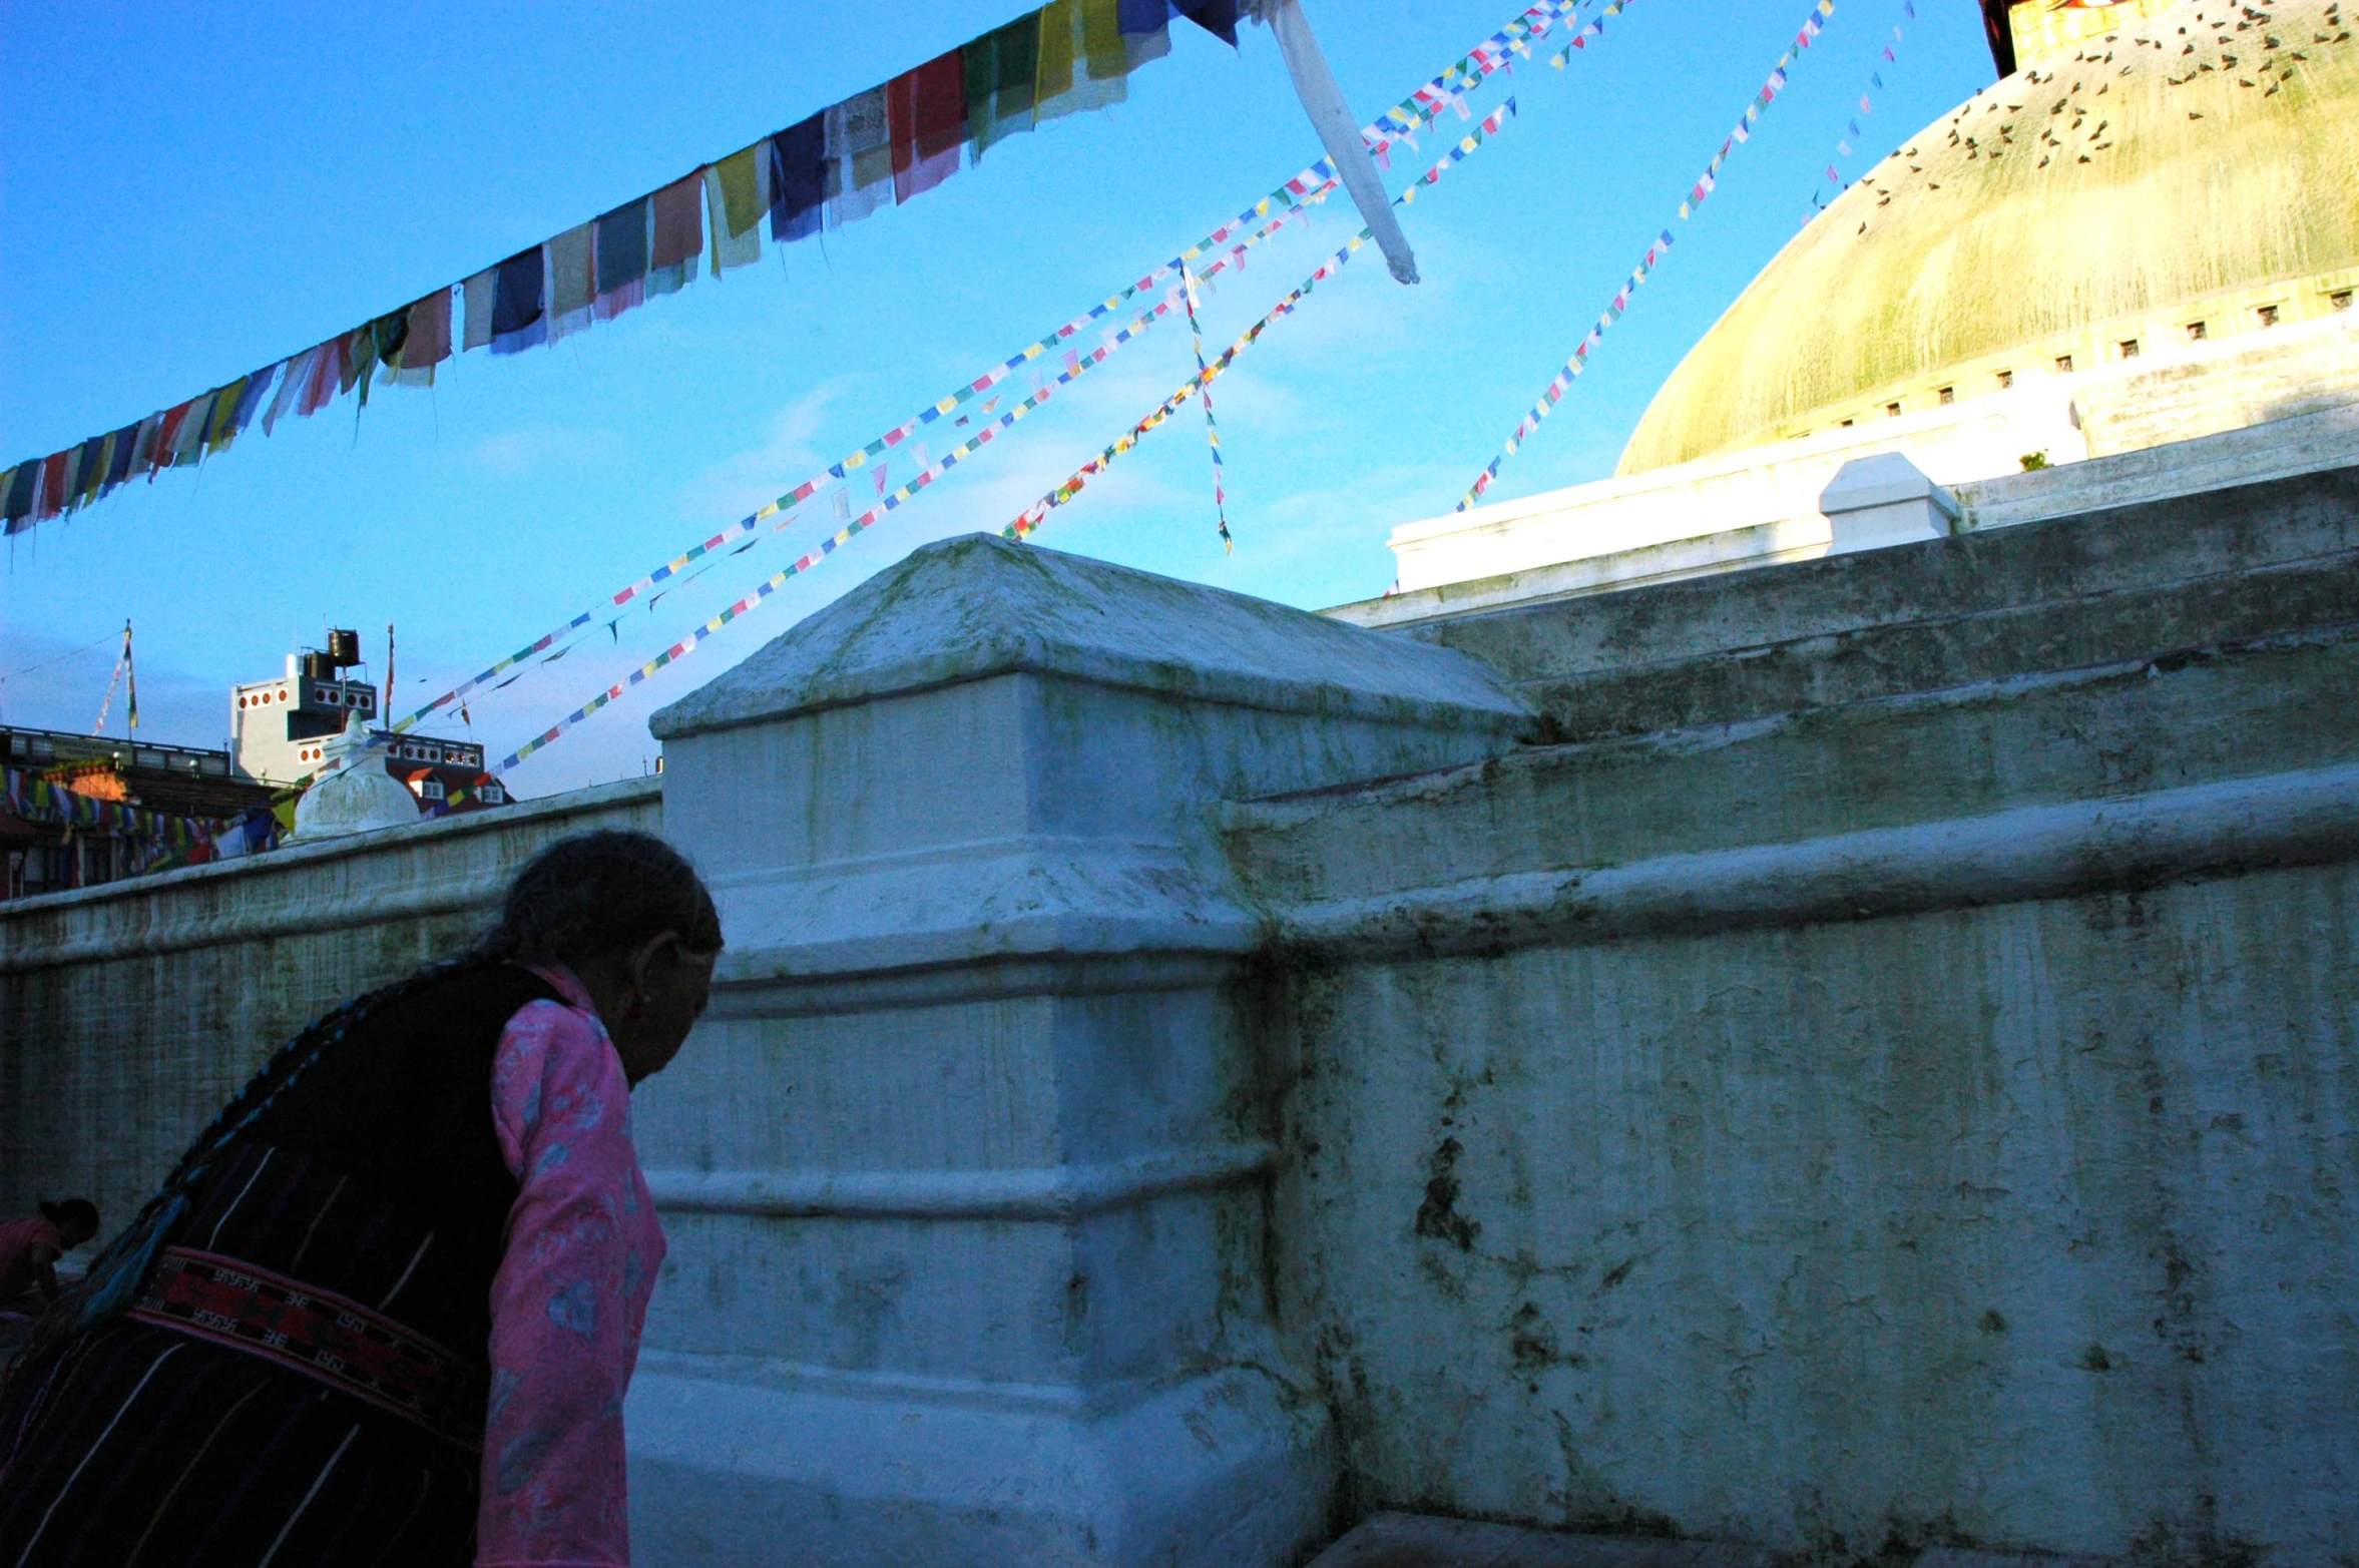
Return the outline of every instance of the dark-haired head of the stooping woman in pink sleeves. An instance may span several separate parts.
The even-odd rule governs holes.
[[[580,976],[639,1082],[679,1054],[705,1009],[722,920],[677,849],[602,830],[559,839],[517,872],[484,950]]]

